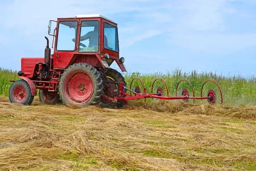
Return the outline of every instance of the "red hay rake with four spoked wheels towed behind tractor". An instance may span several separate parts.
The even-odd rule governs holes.
[[[124,90],[129,90],[130,93],[126,93]],[[181,99],[185,102],[191,100],[193,103],[196,99],[207,99],[210,104],[222,104],[223,102],[221,88],[218,83],[213,80],[204,82],[200,97],[195,97],[195,92],[189,81],[181,80],[176,86],[175,95],[176,96],[169,96],[166,82],[161,78],[154,80],[150,93],[148,93],[148,90],[146,90],[143,82],[139,78],[134,78],[129,88],[124,86],[123,82],[120,82],[118,95],[114,97],[112,101],[127,102],[128,100],[134,99],[156,98],[164,100]]]

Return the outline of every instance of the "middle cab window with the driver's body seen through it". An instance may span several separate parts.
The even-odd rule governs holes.
[[[82,21],[79,52],[98,52],[99,21]]]

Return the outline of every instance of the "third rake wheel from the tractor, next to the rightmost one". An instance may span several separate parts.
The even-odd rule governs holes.
[[[176,87],[176,96],[192,96],[195,97],[195,92],[188,80],[180,80]],[[183,99],[185,102],[193,101],[194,99]]]

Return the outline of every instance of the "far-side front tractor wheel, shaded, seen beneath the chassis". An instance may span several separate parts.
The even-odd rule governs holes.
[[[45,104],[56,104],[60,101],[60,96],[57,92],[39,90],[39,100]]]

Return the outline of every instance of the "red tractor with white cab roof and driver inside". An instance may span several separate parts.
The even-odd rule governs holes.
[[[53,34],[52,22],[56,22]],[[117,24],[113,20],[99,14],[58,18],[49,21],[48,34],[53,36],[53,54],[45,37],[44,58],[21,58],[21,80],[12,81],[11,102],[29,105],[37,95],[36,89],[40,89],[39,99],[46,104],[61,100],[79,106],[122,105],[123,101],[115,97],[120,82],[126,85],[125,79],[109,68],[116,61],[126,71],[124,58],[119,58]]]

